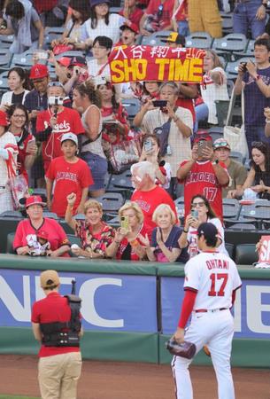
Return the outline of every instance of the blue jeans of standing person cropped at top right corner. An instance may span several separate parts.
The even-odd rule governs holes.
[[[234,33],[248,35],[249,27],[251,27],[252,39],[256,39],[265,32],[266,18],[264,20],[256,20],[256,12],[262,4],[260,0],[251,0],[248,3],[240,3],[235,5],[234,10]]]

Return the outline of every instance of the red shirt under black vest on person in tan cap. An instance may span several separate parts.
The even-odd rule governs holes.
[[[57,292],[49,293],[46,298],[36,301],[32,309],[33,323],[65,323],[70,320],[71,309],[67,299]],[[40,348],[39,357],[62,355],[69,352],[80,352],[79,347],[45,347]]]

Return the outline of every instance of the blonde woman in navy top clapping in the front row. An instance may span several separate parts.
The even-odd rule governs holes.
[[[167,204],[160,204],[153,213],[152,220],[158,227],[152,231],[151,242],[148,237],[139,239],[146,248],[146,254],[152,262],[187,262],[187,248],[181,248],[178,239],[182,229],[175,224],[176,216]]]

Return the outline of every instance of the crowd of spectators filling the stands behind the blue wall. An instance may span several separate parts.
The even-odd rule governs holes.
[[[13,35],[7,51],[30,51],[33,65],[11,66],[9,90],[2,93],[0,214],[14,209],[17,176],[34,190],[46,189],[46,198],[24,193],[27,219],[15,234],[17,254],[186,262],[197,254],[194,238],[204,222],[217,226],[219,250],[226,253],[222,199],[252,192],[253,200],[270,200],[267,2],[125,0],[117,12],[109,0],[5,0],[2,6],[0,50],[3,37]],[[112,84],[108,65],[113,47],[158,31],[171,48],[184,48],[186,36],[197,31],[218,39],[222,13],[230,11],[233,32],[255,40],[254,59],[239,63],[234,82],[234,95],[243,94],[251,158],[244,165],[230,158],[232,143],[211,135],[219,126],[217,102],[230,95],[219,51],[205,49],[199,84]],[[65,28],[48,44],[46,27]],[[133,118],[128,99],[139,105]],[[123,159],[135,190],[114,229],[104,222],[99,200]],[[183,227],[174,202],[181,195]],[[66,219],[81,246],[71,250],[58,222],[43,217],[44,207]]]

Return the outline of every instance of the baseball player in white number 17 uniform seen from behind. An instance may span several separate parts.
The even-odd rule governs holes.
[[[230,369],[234,335],[234,319],[230,308],[235,291],[242,286],[235,262],[216,251],[218,230],[212,223],[202,223],[197,229],[200,254],[185,265],[185,297],[174,340],[193,342],[198,353],[204,345],[210,350],[218,380],[219,399],[235,399]],[[191,322],[185,329],[189,316]],[[172,369],[177,399],[192,399],[189,376],[191,360],[174,356]]]

